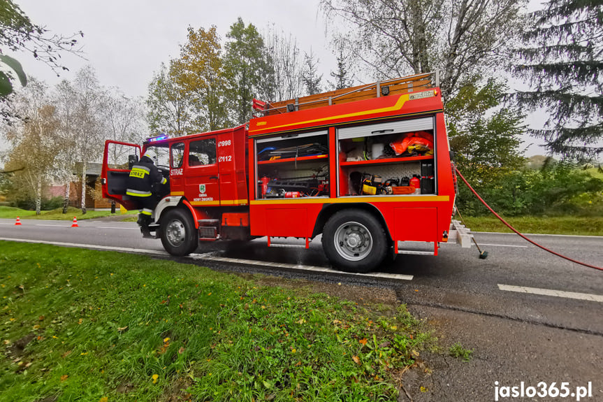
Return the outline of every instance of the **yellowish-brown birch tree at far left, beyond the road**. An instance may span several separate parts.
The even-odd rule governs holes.
[[[57,155],[55,134],[59,124],[47,91],[42,82],[30,80],[27,89],[17,94],[13,105],[26,119],[6,134],[13,145],[6,164],[8,170],[16,170],[13,186],[20,190],[20,196],[35,200],[36,215],[41,213],[43,187],[52,180],[52,165]]]

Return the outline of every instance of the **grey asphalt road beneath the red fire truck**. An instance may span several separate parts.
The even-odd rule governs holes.
[[[161,242],[140,237],[135,223],[0,220],[0,238],[166,257]],[[404,255],[375,275],[358,276],[326,269],[319,239],[310,250],[268,248],[266,239],[244,244],[208,243],[184,261],[217,269],[274,273],[286,278],[343,282],[378,289],[384,297],[406,303],[425,319],[444,345],[444,352],[423,354],[426,366],[405,374],[412,401],[575,401],[576,387],[590,382],[591,396],[603,401],[603,271],[579,266],[548,254],[512,234],[474,234],[488,258],[472,247],[442,245],[437,257]],[[537,243],[588,264],[603,266],[603,238],[529,236]],[[295,241],[283,241],[293,244]],[[359,287],[358,285],[361,285]],[[355,295],[359,296],[359,295]],[[469,362],[446,355],[453,343],[473,349]],[[505,398],[502,387],[537,387],[543,392],[567,382],[571,392],[557,396]],[[423,388],[421,388],[423,387]],[[572,396],[572,393],[574,396]],[[409,401],[401,392],[400,401]]]

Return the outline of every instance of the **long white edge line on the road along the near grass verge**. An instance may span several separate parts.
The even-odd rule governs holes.
[[[0,240],[19,241],[22,243],[40,243],[40,244],[60,245],[60,246],[64,246],[64,247],[92,248],[92,249],[96,249],[96,250],[124,251],[124,252],[138,252],[138,253],[143,253],[143,254],[167,255],[166,252],[161,252],[161,251],[157,251],[157,250],[144,250],[144,249],[140,249],[140,248],[113,247],[113,246],[106,246],[106,245],[92,245],[92,244],[78,244],[78,243],[61,243],[58,241],[26,240],[26,239],[22,239],[22,238],[0,237]],[[238,263],[238,264],[274,266],[277,268],[292,268],[292,269],[296,269],[299,271],[317,271],[317,272],[329,272],[329,273],[342,274],[341,271],[335,271],[332,268],[324,268],[321,266],[280,264],[277,262],[257,261],[254,259],[236,259],[236,258],[228,258],[228,257],[218,257],[211,252],[208,252],[205,254],[190,254],[189,257],[191,257],[192,259],[210,259],[213,261],[234,262],[234,263]],[[397,273],[379,273],[379,272],[377,272],[377,273],[346,273],[346,274],[370,276],[370,277],[377,277],[377,278],[398,279],[398,280],[412,280],[412,275],[401,275],[401,274],[397,274]]]

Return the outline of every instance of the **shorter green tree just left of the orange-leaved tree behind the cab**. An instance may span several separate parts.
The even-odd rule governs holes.
[[[177,82],[177,75],[175,60],[170,61],[169,68],[161,63],[149,84],[147,122],[152,133],[177,137],[195,131],[190,99]]]

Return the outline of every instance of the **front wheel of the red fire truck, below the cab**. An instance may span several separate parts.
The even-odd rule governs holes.
[[[161,244],[176,256],[191,254],[197,249],[199,237],[192,219],[182,209],[168,210],[161,218]]]

